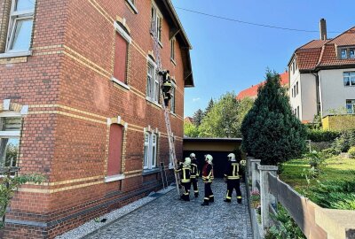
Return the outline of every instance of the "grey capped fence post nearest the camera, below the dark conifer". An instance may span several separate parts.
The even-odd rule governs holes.
[[[261,201],[261,225],[263,228],[272,226],[269,206],[276,203],[275,197],[269,193],[269,173],[276,175],[277,166],[257,166],[260,172],[260,201]]]

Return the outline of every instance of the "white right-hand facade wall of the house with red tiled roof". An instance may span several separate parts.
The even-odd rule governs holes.
[[[347,99],[355,99],[355,87],[343,85],[344,72],[355,72],[355,68],[319,71],[322,117],[345,107]]]

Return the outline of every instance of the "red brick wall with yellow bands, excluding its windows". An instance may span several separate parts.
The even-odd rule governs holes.
[[[48,177],[43,185],[23,186],[12,199],[5,238],[53,238],[162,187],[160,173],[142,175],[145,127],[158,128],[157,164],[169,165],[162,108],[146,100],[146,58],[154,50],[150,8],[150,1],[137,1],[135,14],[123,0],[37,0],[33,55],[0,58],[0,101],[29,105],[20,143],[21,172]],[[177,81],[176,115],[170,120],[181,158],[184,59],[177,42],[176,66],[170,61],[169,16],[162,13],[162,66]],[[116,19],[125,19],[130,29],[130,89],[111,81]],[[128,124],[125,179],[104,182],[107,119],[117,116]]]

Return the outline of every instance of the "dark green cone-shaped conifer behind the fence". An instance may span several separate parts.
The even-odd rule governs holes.
[[[298,157],[305,149],[305,127],[291,112],[280,75],[267,71],[253,108],[241,125],[242,146],[263,164],[277,165]]]

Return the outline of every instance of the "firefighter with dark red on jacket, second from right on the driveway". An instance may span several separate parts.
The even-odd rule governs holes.
[[[202,180],[205,184],[205,197],[203,198],[203,203],[201,204],[202,206],[215,202],[215,197],[211,189],[211,184],[214,179],[212,160],[213,157],[211,155],[208,154],[205,156],[206,163],[202,169]]]

